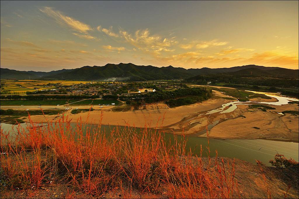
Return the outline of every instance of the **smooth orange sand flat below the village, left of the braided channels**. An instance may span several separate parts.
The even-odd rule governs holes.
[[[219,91],[213,91],[216,98],[212,98],[206,100],[204,102],[186,105],[186,106],[179,106],[176,108],[167,108],[161,105],[152,105],[147,107],[147,110],[134,110],[134,111],[127,111],[127,112],[112,112],[109,108],[103,110],[103,125],[126,125],[129,123],[130,125],[135,125],[136,127],[144,127],[145,121],[151,121],[150,127],[156,127],[158,123],[158,127],[161,126],[162,119],[163,124],[162,126],[172,125],[175,123],[180,122],[183,120],[184,117],[190,114],[196,114],[203,111],[208,111],[214,109],[216,107],[221,106],[224,103],[230,102],[231,100],[223,99],[220,97],[227,97],[227,95],[220,93]],[[80,106],[79,108],[83,108]],[[84,106],[84,108],[88,108],[88,106]],[[155,108],[154,110],[151,110]],[[156,109],[159,108],[159,109]],[[72,122],[76,122],[77,120],[82,120],[86,122],[88,119],[88,123],[99,123],[100,116],[102,110],[94,110],[91,112],[83,112],[80,114],[70,114],[70,111],[66,114]],[[52,120],[56,116],[46,116],[46,119]],[[31,119],[35,122],[44,122],[45,117],[43,116],[32,116]],[[28,121],[28,120],[24,120]]]

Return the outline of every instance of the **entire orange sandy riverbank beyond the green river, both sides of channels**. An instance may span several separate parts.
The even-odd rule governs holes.
[[[280,115],[277,112],[286,110],[298,111],[298,105],[270,105],[275,110],[262,111],[248,109],[248,105],[237,105],[237,108],[229,113],[219,112],[208,114],[210,110],[220,108],[222,104],[233,100],[224,99],[227,95],[213,91],[214,97],[201,103],[187,106],[169,108],[165,104],[153,104],[144,107],[144,110],[126,112],[113,112],[112,106],[103,107],[101,110],[94,107],[94,111],[71,114],[71,109],[65,112],[71,122],[98,124],[102,117],[103,125],[126,125],[135,127],[158,127],[165,132],[176,134],[189,134],[193,136],[206,136],[206,129],[210,130],[210,137],[222,139],[272,139],[291,140],[298,142],[298,115]],[[250,101],[277,102],[277,99],[253,98]],[[252,102],[254,104],[254,102]],[[43,109],[57,108],[55,106],[43,106]],[[2,108],[2,107],[1,107]],[[20,107],[19,107],[20,108]],[[64,109],[65,107],[59,107]],[[74,107],[72,107],[74,108]],[[90,108],[90,105],[79,108]],[[142,108],[142,107],[141,107]],[[226,107],[226,110],[229,107]],[[242,117],[240,117],[242,116]],[[33,115],[31,120],[38,123],[57,120],[57,115]],[[29,119],[22,119],[28,122]],[[216,125],[216,126],[214,126]]]

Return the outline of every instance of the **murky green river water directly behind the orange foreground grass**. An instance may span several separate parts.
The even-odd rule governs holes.
[[[21,124],[25,127],[27,123]],[[71,124],[75,127],[75,124]],[[94,129],[96,126],[88,124],[87,128]],[[111,131],[116,128],[115,126],[102,125],[100,131],[105,132],[106,136],[109,136]],[[124,128],[124,127],[118,127]],[[16,131],[16,126],[1,123],[1,129],[4,131]],[[84,128],[86,129],[86,128]],[[137,132],[141,131],[141,128],[136,128]],[[86,132],[86,131],[85,131]],[[169,133],[163,133],[164,138],[167,140],[174,140],[174,135]],[[180,135],[176,135],[178,140],[183,139]],[[269,164],[269,160],[274,158],[274,155],[279,152],[284,154],[287,158],[292,157],[298,161],[298,143],[294,142],[282,142],[272,140],[244,140],[244,139],[213,139],[209,138],[210,143],[210,156],[215,156],[217,150],[219,157],[231,157],[241,160],[245,160],[255,164],[255,160],[260,160],[266,165]],[[206,137],[187,137],[186,150],[191,149],[194,155],[200,155],[200,145],[202,145],[203,156],[207,156],[208,138]],[[276,152],[277,151],[277,152]]]

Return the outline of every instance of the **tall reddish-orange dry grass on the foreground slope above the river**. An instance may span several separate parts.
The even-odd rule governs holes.
[[[18,125],[14,134],[1,129],[1,183],[12,188],[68,183],[97,197],[116,189],[124,198],[132,189],[169,198],[238,197],[234,162],[203,161],[203,149],[195,156],[184,135],[167,140],[149,126],[139,132],[127,124],[106,134],[101,122],[89,128],[78,120],[72,126],[62,117],[42,127],[32,121]]]

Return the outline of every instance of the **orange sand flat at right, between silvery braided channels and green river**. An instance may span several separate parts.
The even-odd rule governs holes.
[[[243,111],[247,105],[238,105]],[[275,138],[280,140],[298,141],[298,116],[291,114],[280,115],[277,112],[297,110],[298,106],[286,104],[274,106],[275,110],[242,111],[244,117],[229,119],[214,126],[209,136],[223,139],[260,139]],[[236,109],[236,110],[237,110]],[[250,109],[252,110],[252,109]]]

